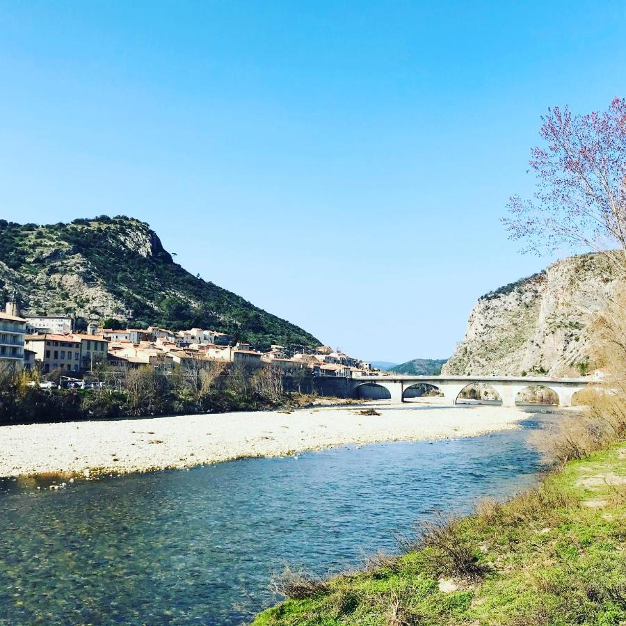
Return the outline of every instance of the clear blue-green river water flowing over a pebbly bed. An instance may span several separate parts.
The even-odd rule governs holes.
[[[284,563],[358,565],[435,508],[465,513],[536,481],[527,436],[545,419],[61,490],[1,481],[0,624],[246,623]]]

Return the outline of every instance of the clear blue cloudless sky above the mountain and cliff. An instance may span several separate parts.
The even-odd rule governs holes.
[[[624,96],[626,3],[0,0],[0,216],[147,221],[360,358],[443,358],[553,259],[499,223],[547,106]]]

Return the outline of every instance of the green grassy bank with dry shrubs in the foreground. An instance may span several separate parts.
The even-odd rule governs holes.
[[[622,458],[624,457],[624,458]],[[451,524],[485,571],[455,575],[437,547],[332,578],[255,626],[626,624],[626,444],[571,461],[536,490]],[[625,479],[626,481],[626,479]],[[590,501],[601,506],[588,506]],[[428,543],[428,542],[427,542]],[[451,578],[458,589],[440,591]]]

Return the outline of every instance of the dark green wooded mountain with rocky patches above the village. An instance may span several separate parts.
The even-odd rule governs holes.
[[[0,294],[25,314],[72,314],[133,326],[210,328],[259,347],[318,339],[193,276],[144,222],[126,216],[36,225],[0,220]]]

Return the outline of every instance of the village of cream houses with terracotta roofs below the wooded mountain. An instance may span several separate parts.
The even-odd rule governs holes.
[[[0,362],[43,376],[57,373],[66,378],[93,372],[106,363],[114,371],[150,367],[167,374],[176,367],[202,367],[227,362],[250,368],[270,365],[285,374],[312,376],[360,376],[373,371],[371,364],[329,346],[297,349],[272,344],[262,352],[245,342],[235,342],[223,332],[190,328],[99,328],[90,323],[87,332],[74,332],[70,316],[20,316],[8,303],[0,313]]]

